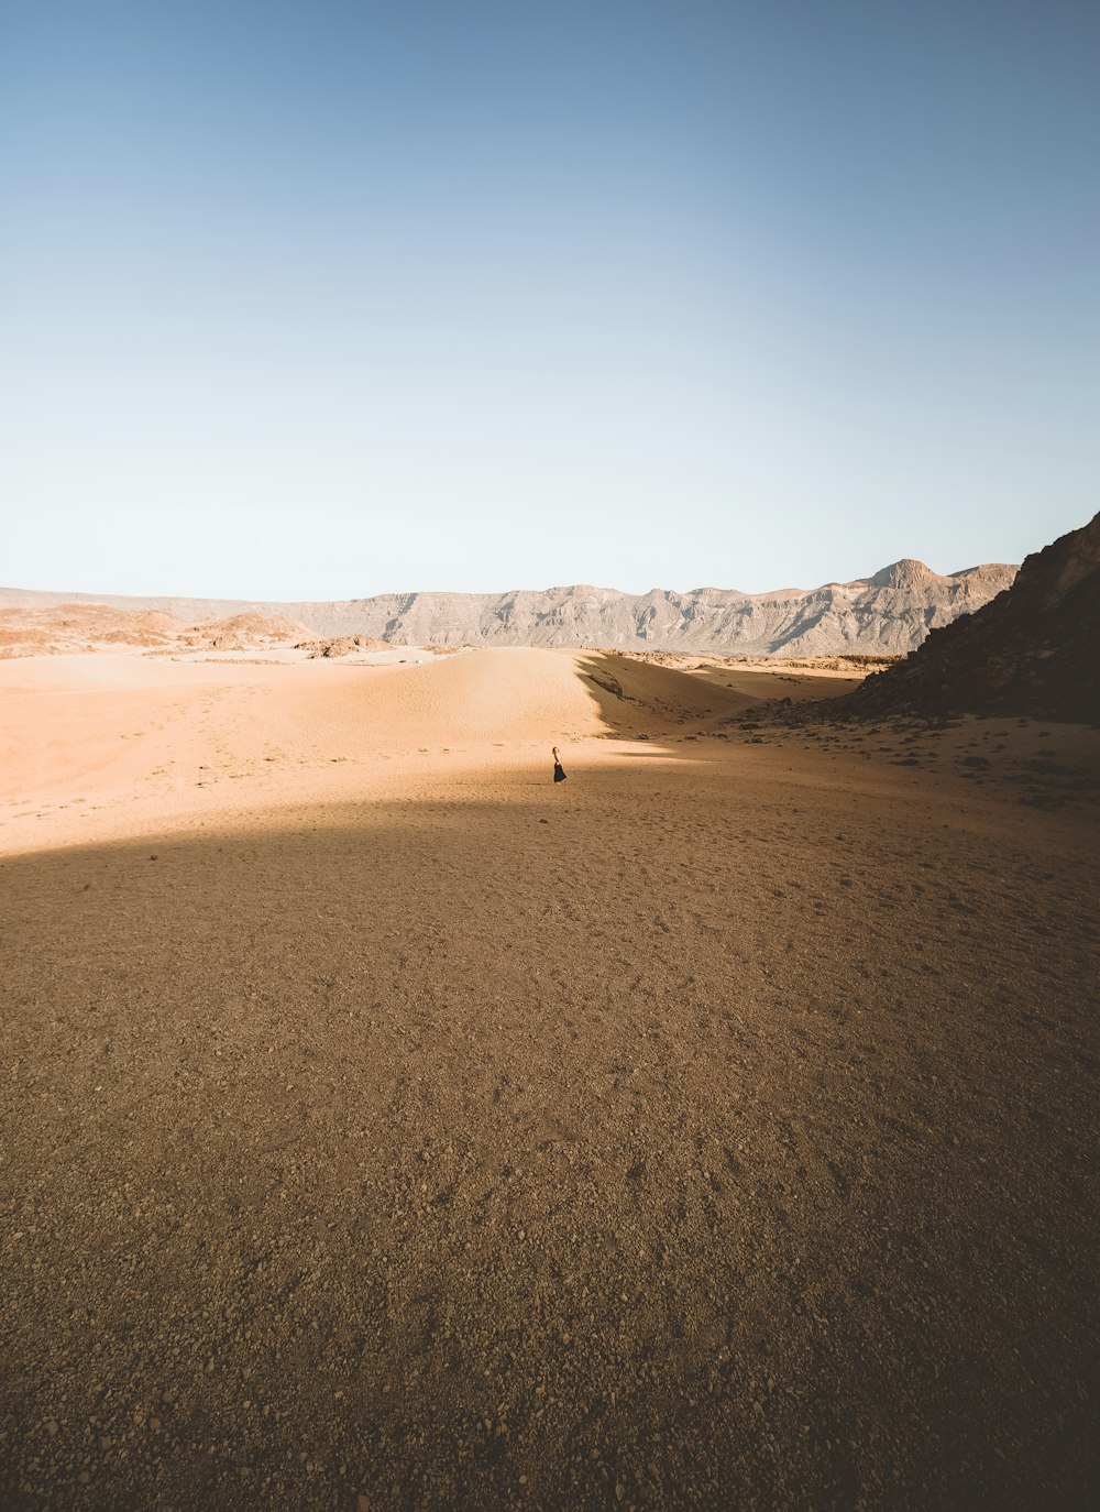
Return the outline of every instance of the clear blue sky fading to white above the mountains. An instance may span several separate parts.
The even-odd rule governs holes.
[[[0,582],[759,591],[1100,508],[1089,0],[0,17]]]

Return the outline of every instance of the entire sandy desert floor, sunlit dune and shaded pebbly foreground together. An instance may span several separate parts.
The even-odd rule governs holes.
[[[0,662],[3,1506],[1094,1506],[1100,732],[388,661]]]

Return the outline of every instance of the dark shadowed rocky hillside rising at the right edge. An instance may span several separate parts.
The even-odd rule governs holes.
[[[848,700],[854,712],[1017,714],[1100,724],[1100,514],[1027,556],[1012,587]]]

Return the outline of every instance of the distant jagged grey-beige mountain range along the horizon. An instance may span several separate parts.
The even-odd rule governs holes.
[[[39,593],[0,588],[0,608],[107,603],[193,623],[236,614],[284,615],[317,635],[370,635],[391,646],[606,646],[740,656],[907,655],[929,631],[981,609],[1012,584],[1002,562],[940,576],[904,559],[872,578],[820,588],[515,590],[387,593],[329,603]]]

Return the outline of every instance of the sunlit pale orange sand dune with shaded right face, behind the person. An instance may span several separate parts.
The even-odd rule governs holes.
[[[613,689],[618,689],[613,691]],[[621,696],[620,696],[621,694]],[[33,816],[33,833],[128,833],[136,816],[225,815],[258,791],[266,804],[305,801],[302,768],[370,767],[484,744],[545,759],[548,745],[677,730],[731,715],[751,697],[620,656],[485,650],[423,665],[216,665],[134,656],[26,658],[0,667],[0,813]],[[615,726],[609,723],[615,721]],[[222,786],[242,782],[240,794]],[[355,791],[363,774],[352,779]],[[345,791],[345,789],[338,789]],[[329,792],[323,785],[320,792]],[[56,810],[68,807],[57,824]],[[83,815],[71,812],[86,804]],[[228,804],[228,809],[227,809]],[[94,812],[118,807],[112,823]],[[73,826],[77,826],[76,829]],[[116,827],[112,827],[116,826]]]

